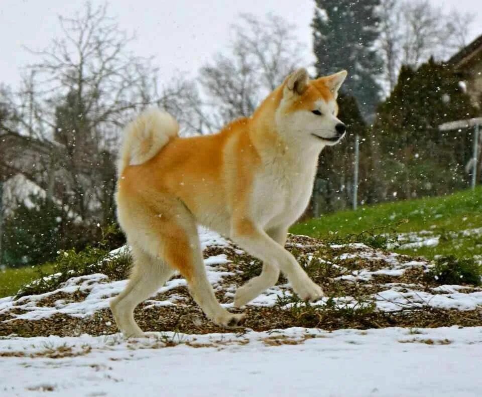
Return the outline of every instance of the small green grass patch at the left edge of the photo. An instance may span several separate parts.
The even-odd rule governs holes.
[[[54,265],[46,263],[25,268],[7,268],[0,271],[0,298],[17,294],[20,287],[38,279],[40,274],[52,274]]]

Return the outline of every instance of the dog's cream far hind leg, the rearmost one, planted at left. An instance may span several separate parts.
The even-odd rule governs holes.
[[[174,271],[162,260],[154,258],[132,245],[134,267],[126,289],[110,302],[117,327],[127,337],[142,337],[144,333],[134,320],[134,309],[152,296]]]

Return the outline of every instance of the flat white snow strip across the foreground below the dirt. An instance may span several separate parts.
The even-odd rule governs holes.
[[[482,395],[482,327],[11,338],[0,355],[6,397]]]

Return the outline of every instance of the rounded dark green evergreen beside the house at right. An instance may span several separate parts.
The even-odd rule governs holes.
[[[464,166],[471,136],[438,125],[476,115],[453,70],[430,59],[417,70],[403,66],[392,94],[378,108],[385,196],[445,194],[468,185]]]

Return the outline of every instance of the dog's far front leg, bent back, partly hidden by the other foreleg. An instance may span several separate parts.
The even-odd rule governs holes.
[[[285,246],[288,231],[284,227],[267,231],[268,235],[282,247]],[[255,299],[258,295],[273,287],[280,277],[280,268],[274,261],[263,262],[263,270],[245,285],[239,287],[234,296],[234,307],[241,307]]]

